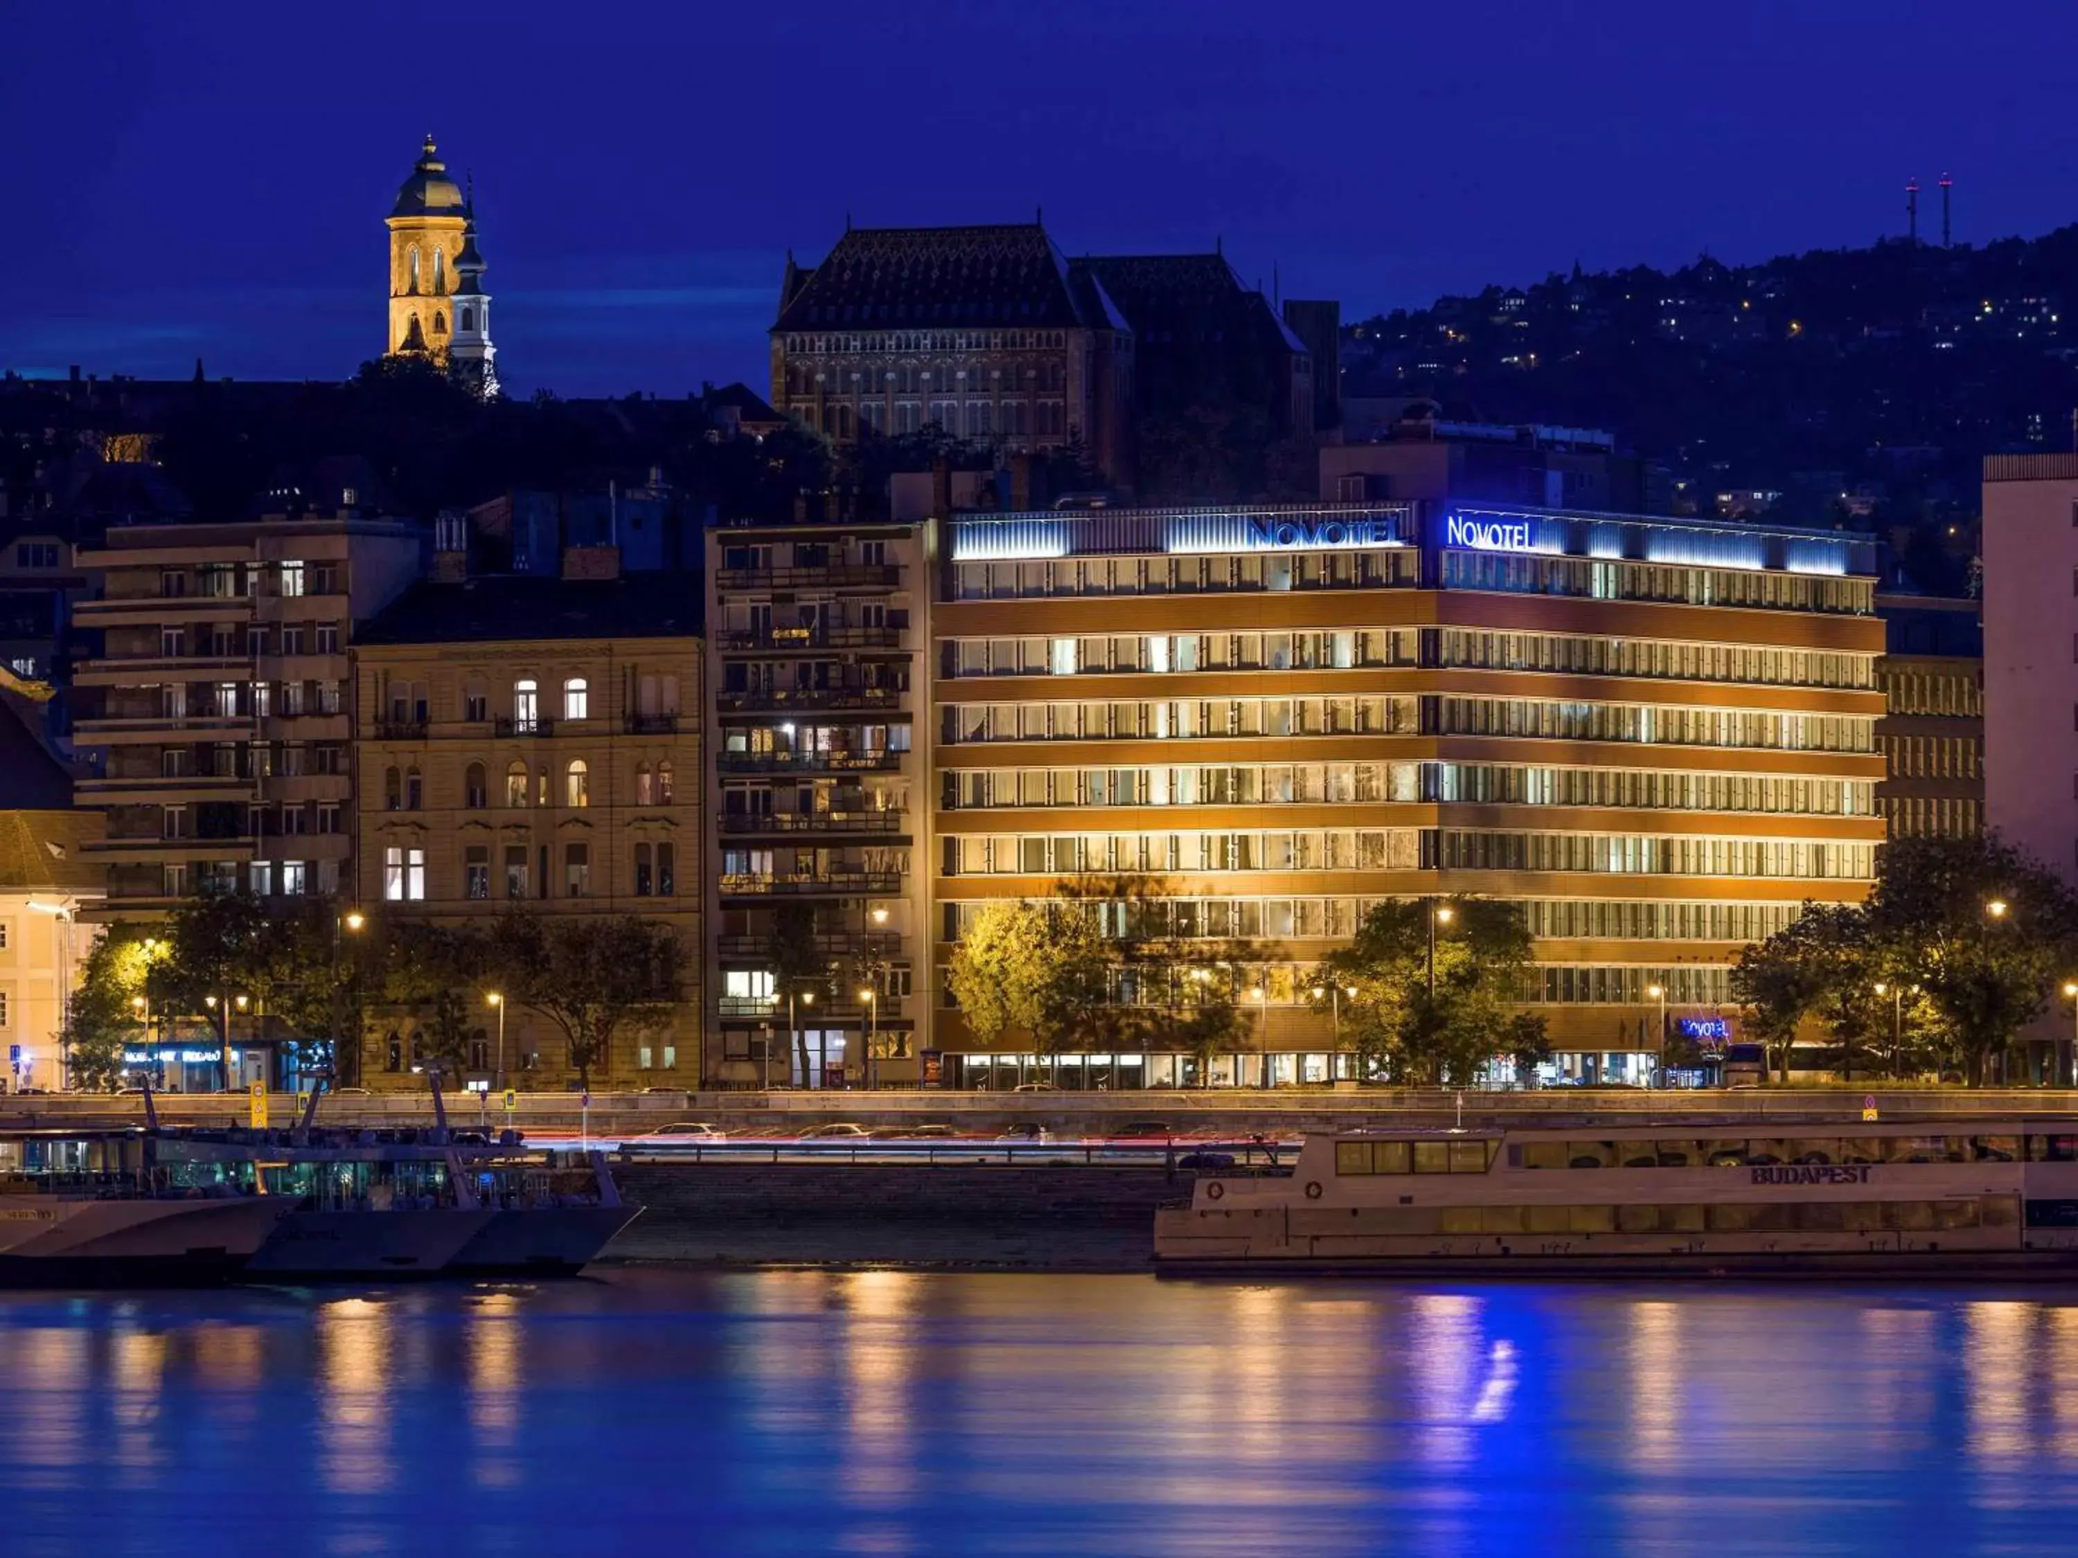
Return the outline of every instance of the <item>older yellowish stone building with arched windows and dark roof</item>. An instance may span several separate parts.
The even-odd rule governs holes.
[[[588,571],[611,559],[582,548]],[[445,555],[441,561],[449,561]],[[567,567],[567,561],[565,561]],[[449,569],[436,567],[438,573]],[[642,914],[684,947],[677,1016],[628,1035],[592,1086],[698,1086],[702,1016],[698,582],[686,573],[428,582],[353,650],[357,904],[372,916],[482,922]],[[563,1032],[472,991],[470,1080],[576,1076]],[[359,1076],[416,1086],[416,1018],[376,1022]]]

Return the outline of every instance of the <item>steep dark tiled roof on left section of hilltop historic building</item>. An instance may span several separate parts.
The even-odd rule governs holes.
[[[1072,328],[1068,266],[1037,222],[858,226],[790,270],[775,330]]]

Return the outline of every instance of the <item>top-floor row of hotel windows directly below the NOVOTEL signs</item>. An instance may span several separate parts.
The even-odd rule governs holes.
[[[1419,582],[1421,555],[1411,546],[1201,557],[1058,557],[1016,563],[956,563],[952,598],[1355,590],[1411,588]],[[1866,577],[1556,555],[1446,550],[1442,553],[1440,588],[1862,617],[1876,607],[1874,582]]]

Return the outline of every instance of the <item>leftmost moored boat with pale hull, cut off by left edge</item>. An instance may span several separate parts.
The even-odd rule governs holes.
[[[0,1286],[191,1288],[229,1282],[291,1203],[175,1188],[141,1130],[0,1134]]]

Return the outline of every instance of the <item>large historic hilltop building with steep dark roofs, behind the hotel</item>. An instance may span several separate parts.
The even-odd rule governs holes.
[[[1311,434],[1305,345],[1220,253],[1066,260],[1039,222],[848,229],[788,256],[773,405],[840,445],[937,424],[1002,453],[1083,447],[1114,484],[1137,434],[1214,407]]]

